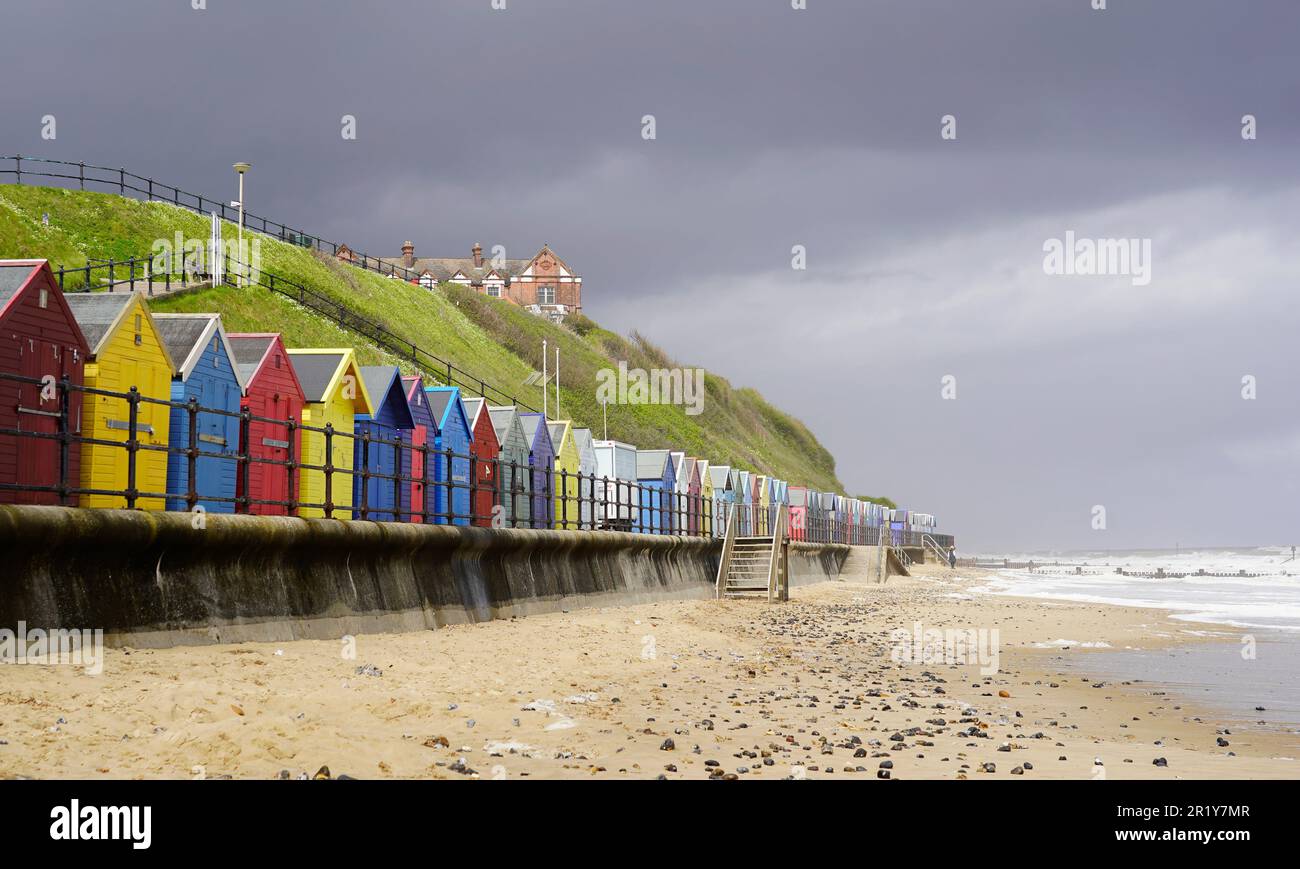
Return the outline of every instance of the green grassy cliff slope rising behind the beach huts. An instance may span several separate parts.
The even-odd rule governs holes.
[[[42,216],[48,215],[48,225]],[[57,268],[87,259],[146,256],[156,239],[207,239],[209,220],[165,203],[56,187],[0,186],[0,258],[47,258]],[[246,230],[247,232],[247,230]],[[235,237],[233,226],[225,230]],[[472,372],[489,385],[541,407],[538,386],[525,385],[542,366],[542,340],[560,349],[560,402],[566,418],[602,433],[597,372],[676,368],[680,363],[646,341],[625,338],[586,317],[556,327],[521,308],[468,287],[437,290],[382,277],[313,251],[261,238],[261,268],[346,304],[421,349]],[[296,302],[260,287],[220,286],[157,299],[159,311],[217,311],[233,332],[281,332],[289,346],[354,346],[364,364],[416,371],[364,337]],[[554,350],[551,351],[554,354]],[[552,355],[554,359],[554,355]],[[438,379],[437,371],[426,371]],[[703,412],[673,405],[610,405],[610,437],[645,449],[673,448],[715,463],[737,464],[824,490],[842,490],[833,457],[800,420],[772,407],[753,389],[733,389],[705,376]]]

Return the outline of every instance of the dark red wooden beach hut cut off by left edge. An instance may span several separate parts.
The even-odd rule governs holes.
[[[90,346],[77,319],[64,301],[49,263],[0,260],[0,371],[56,381],[65,375],[83,382]],[[48,384],[48,381],[47,381]],[[57,434],[60,390],[39,384],[0,380],[0,428]],[[81,433],[82,394],[68,394],[68,428]],[[64,485],[81,484],[81,445],[69,444]],[[61,453],[58,441],[43,437],[0,434],[0,483],[49,487],[47,492],[0,488],[0,503],[60,503]],[[75,496],[66,498],[75,502]]]

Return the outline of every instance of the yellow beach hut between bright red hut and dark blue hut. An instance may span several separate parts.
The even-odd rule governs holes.
[[[303,425],[334,427],[330,445],[334,474],[329,487],[329,501],[334,509],[330,515],[334,519],[350,519],[355,418],[358,414],[374,412],[361,369],[351,347],[290,350],[289,358],[306,395]],[[317,468],[325,466],[324,432],[303,429],[302,463]],[[325,503],[325,471],[303,468],[299,480],[298,497],[304,505]],[[298,515],[320,518],[325,515],[325,510],[320,506],[302,506]]]

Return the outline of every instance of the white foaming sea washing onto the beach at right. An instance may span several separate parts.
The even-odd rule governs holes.
[[[1013,567],[967,589],[971,593],[1158,609],[1187,622],[1183,632],[1206,637],[1089,654],[1091,674],[1156,683],[1243,727],[1300,734],[1300,558],[1291,546],[1000,553],[980,559],[1005,559]],[[1015,566],[1030,561],[1032,571]],[[1160,639],[1154,626],[1152,632]],[[1058,637],[1046,645],[1104,647],[1096,637]]]

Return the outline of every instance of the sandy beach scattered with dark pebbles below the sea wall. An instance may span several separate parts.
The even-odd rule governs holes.
[[[915,572],[800,587],[785,605],[578,609],[355,648],[109,649],[98,676],[5,666],[0,777],[1300,777],[1300,735],[1093,682],[1079,656],[1113,652],[1049,645],[1205,641],[1196,624],[972,596],[987,578],[972,568]],[[894,660],[892,632],[918,623],[996,630],[997,671]]]

